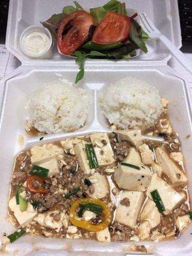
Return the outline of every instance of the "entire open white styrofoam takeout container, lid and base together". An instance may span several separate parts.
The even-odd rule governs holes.
[[[97,3],[96,3],[97,2]],[[79,1],[86,8],[100,6],[108,0]],[[161,32],[172,42],[181,46],[180,27],[177,1],[175,0],[126,0],[127,8],[140,12],[143,10],[153,20]],[[61,133],[44,136],[29,137],[24,131],[26,125],[26,111],[24,106],[31,95],[45,82],[56,77],[75,81],[78,66],[75,60],[58,54],[56,47],[51,60],[31,60],[22,54],[19,38],[22,31],[30,25],[38,24],[51,17],[53,13],[61,12],[63,6],[72,5],[72,1],[63,0],[10,0],[6,47],[22,62],[12,74],[4,78],[3,108],[0,120],[1,141],[1,179],[0,179],[0,237],[4,232],[10,234],[14,228],[6,221],[8,193],[15,156],[36,144],[61,140],[91,132],[109,131],[108,122],[98,105],[99,93],[104,93],[109,83],[122,77],[135,76],[144,79],[157,87],[162,97],[170,101],[170,119],[175,131],[179,132],[182,141],[186,170],[189,177],[189,188],[192,188],[192,137],[191,111],[188,100],[188,84],[177,76],[166,65],[170,53],[158,41],[150,40],[147,44],[148,54],[140,54],[129,61],[86,60],[84,79],[77,86],[82,86],[93,98],[86,125],[76,132]],[[18,143],[18,136],[24,138],[23,145]],[[191,190],[189,196],[192,197]],[[192,225],[173,241],[161,243],[134,242],[144,244],[147,248],[153,246],[153,255],[189,255],[192,249]],[[97,241],[45,239],[43,237],[24,236],[8,245],[10,254],[15,255],[125,255],[132,241],[127,243],[99,243]],[[132,253],[131,253],[132,254]],[[136,254],[141,254],[137,252]]]

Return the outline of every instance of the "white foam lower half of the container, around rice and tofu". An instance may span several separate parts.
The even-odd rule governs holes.
[[[92,108],[90,108],[88,122],[81,131],[52,134],[45,136],[43,141],[39,137],[30,138],[24,132],[26,113],[24,103],[28,101],[31,92],[40,88],[42,84],[61,74],[65,79],[74,80],[77,70],[73,67],[20,67],[13,77],[4,81],[4,101],[1,115],[1,179],[0,187],[3,193],[0,194],[0,221],[1,234],[10,234],[14,228],[6,221],[8,189],[13,170],[15,156],[38,143],[47,143],[52,140],[60,140],[95,131],[108,131],[108,122],[102,114],[97,102],[98,93],[103,93],[112,81],[122,77],[134,76],[144,79],[157,87],[159,93],[170,101],[170,120],[175,130],[179,133],[182,142],[182,152],[184,154],[186,170],[189,177],[189,196],[192,197],[192,175],[191,175],[191,110],[189,109],[187,84],[182,77],[177,77],[169,67],[122,67],[118,70],[113,68],[97,69],[86,68],[86,76],[79,86],[86,88],[93,96]],[[107,76],[106,76],[107,74]],[[17,141],[18,135],[24,136],[24,144]],[[189,138],[186,138],[186,136]],[[19,251],[20,255],[125,255],[129,246],[134,244],[144,244],[147,248],[153,246],[154,255],[189,255],[191,252],[191,225],[181,234],[178,239],[153,242],[127,242],[127,243],[99,243],[95,241],[69,240],[69,239],[45,239],[44,237],[21,237],[18,241],[8,245],[8,250],[13,253]],[[38,250],[38,252],[36,252]],[[72,254],[74,253],[74,254]]]

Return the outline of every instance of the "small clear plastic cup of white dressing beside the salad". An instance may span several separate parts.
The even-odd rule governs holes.
[[[20,35],[20,49],[29,58],[50,59],[53,44],[51,33],[42,26],[29,26]]]

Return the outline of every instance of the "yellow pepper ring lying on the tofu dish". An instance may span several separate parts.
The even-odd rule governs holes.
[[[76,212],[76,209],[79,206],[79,204],[100,205],[102,207],[102,214],[104,215],[104,221],[102,221],[99,224],[93,225],[92,223],[86,220],[81,220],[81,218],[77,216],[77,212]],[[72,204],[72,207],[70,208],[69,218],[73,225],[84,228],[89,231],[95,231],[95,232],[104,230],[106,227],[108,227],[111,221],[108,205],[106,205],[104,202],[102,202],[99,199],[93,199],[93,198],[82,198],[74,202],[74,204]]]

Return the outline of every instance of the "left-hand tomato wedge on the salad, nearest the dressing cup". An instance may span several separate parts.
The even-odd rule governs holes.
[[[60,51],[67,55],[75,52],[87,40],[90,26],[93,24],[94,19],[87,12],[78,11],[67,15],[61,20],[56,36]],[[68,25],[70,29],[63,35]]]

